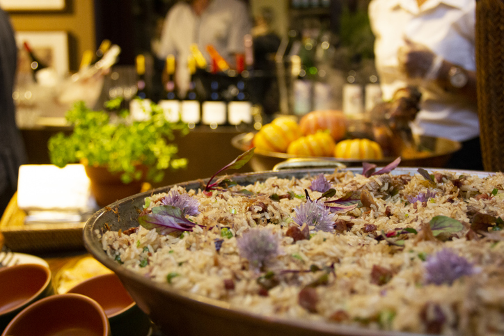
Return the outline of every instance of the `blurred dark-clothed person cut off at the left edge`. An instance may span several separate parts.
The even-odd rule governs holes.
[[[19,166],[26,150],[15,121],[13,88],[17,46],[10,19],[0,8],[0,216],[17,190]]]

